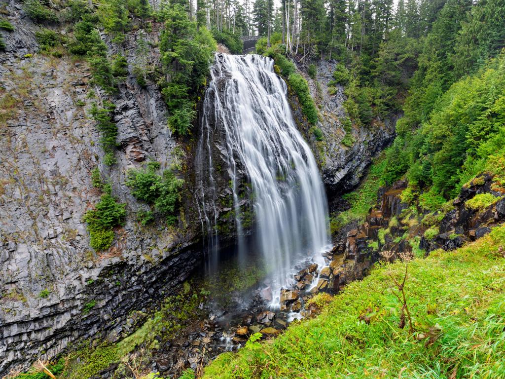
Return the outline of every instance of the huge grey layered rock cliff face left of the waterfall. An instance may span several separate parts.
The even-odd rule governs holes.
[[[112,340],[128,334],[128,314],[170,294],[201,254],[190,177],[177,228],[161,220],[139,226],[135,213],[146,205],[124,184],[126,171],[142,161],[164,168],[186,160],[157,86],[141,88],[131,75],[119,86],[112,99],[118,162],[103,165],[87,113],[97,100],[87,97],[93,88],[86,63],[37,54],[38,27],[19,2],[6,10],[16,29],[2,32],[7,48],[0,53],[0,376],[98,332]],[[91,183],[94,167],[110,178],[128,214],[104,253],[89,247],[82,221],[100,196]]]

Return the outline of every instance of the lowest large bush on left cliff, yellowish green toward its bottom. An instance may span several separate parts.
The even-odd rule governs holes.
[[[112,228],[121,225],[125,215],[125,204],[118,203],[112,196],[110,184],[105,185],[104,195],[94,209],[87,211],[83,218],[89,231],[89,245],[96,251],[108,249],[114,241]]]

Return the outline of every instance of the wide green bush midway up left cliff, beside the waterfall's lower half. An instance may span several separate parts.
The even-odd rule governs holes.
[[[175,177],[170,170],[164,170],[159,175],[156,173],[159,168],[158,162],[148,162],[144,168],[130,170],[126,185],[136,199],[154,205],[158,212],[167,217],[169,224],[174,224],[177,220],[175,207],[184,180]],[[152,212],[144,212],[139,215],[139,222],[146,225],[153,217]]]

